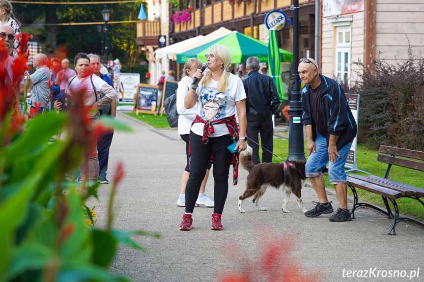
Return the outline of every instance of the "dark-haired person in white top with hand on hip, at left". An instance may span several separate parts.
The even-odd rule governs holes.
[[[90,58],[85,53],[79,53],[75,57],[75,70],[77,71],[76,76],[71,77],[68,80],[65,88],[65,95],[69,95],[69,99],[72,102],[73,93],[80,91],[84,92],[84,106],[92,107],[93,109],[103,109],[107,105],[111,104],[115,99],[117,93],[111,85],[108,85],[104,80],[96,75],[90,75]],[[105,96],[100,99],[101,93],[105,93]],[[76,97],[75,97],[76,98]],[[79,101],[75,101],[77,104]],[[56,101],[54,108],[57,111],[62,110],[62,103]],[[99,117],[99,111],[95,111],[90,115],[91,126],[94,125],[95,120]],[[71,117],[72,118],[72,117]],[[88,162],[83,164],[81,167],[82,180],[88,179],[90,182],[97,182],[99,178],[99,159],[97,158],[97,147],[94,143],[93,151],[89,153]]]

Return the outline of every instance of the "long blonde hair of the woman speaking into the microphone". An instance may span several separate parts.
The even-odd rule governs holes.
[[[209,54],[213,54],[216,58],[222,59],[223,61],[223,72],[221,74],[221,78],[218,81],[218,91],[221,93],[225,93],[228,89],[228,77],[227,77],[227,70],[229,69],[231,65],[231,54],[229,53],[228,48],[226,48],[223,45],[212,45],[209,47]],[[205,71],[205,74],[201,80],[201,84],[203,87],[206,87],[212,82],[212,72]]]

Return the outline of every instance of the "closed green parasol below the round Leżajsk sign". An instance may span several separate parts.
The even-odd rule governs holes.
[[[280,100],[283,101],[285,100],[283,80],[281,79],[281,62],[283,60],[280,58],[281,52],[278,52],[278,50],[281,49],[278,48],[276,33],[275,28],[271,28],[269,30],[268,67],[269,75],[274,80],[275,86],[277,86],[277,92],[280,96]]]

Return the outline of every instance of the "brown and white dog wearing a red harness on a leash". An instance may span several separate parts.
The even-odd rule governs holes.
[[[246,190],[239,197],[238,209],[241,213],[246,213],[242,208],[243,201],[252,197],[253,202],[258,210],[267,210],[265,207],[261,207],[258,204],[259,198],[265,193],[268,187],[274,187],[284,192],[283,200],[283,212],[289,213],[286,209],[290,194],[293,193],[294,197],[299,204],[299,207],[303,212],[306,212],[303,201],[301,190],[305,185],[305,161],[290,161],[296,168],[287,166],[287,170],[284,176],[284,165],[279,163],[262,163],[254,165],[252,162],[252,148],[250,146],[240,153],[240,165],[249,171],[247,176]],[[322,169],[323,174],[328,174],[328,169],[324,167]]]

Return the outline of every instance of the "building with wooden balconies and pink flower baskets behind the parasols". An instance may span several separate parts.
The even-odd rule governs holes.
[[[167,44],[181,42],[198,35],[207,35],[220,27],[230,30],[237,30],[243,34],[253,36],[263,42],[268,43],[268,29],[265,27],[264,19],[267,12],[271,10],[282,10],[288,19],[286,28],[278,32],[280,48],[293,52],[292,39],[293,28],[291,20],[293,11],[290,6],[292,0],[180,0],[179,10],[190,7],[191,19],[188,22],[171,22],[173,15],[172,7],[165,0],[160,11],[160,21],[139,22],[136,42],[139,48],[148,51],[150,84],[157,84],[162,70],[167,72],[173,69],[177,72],[177,79],[180,77],[180,66],[169,59],[157,59],[154,56],[158,48],[158,36],[166,35]],[[315,0],[299,1],[299,22],[300,22],[300,50],[299,56],[314,56],[315,37]],[[252,32],[253,30],[253,32]],[[156,44],[155,44],[156,43]],[[289,85],[291,79],[291,63],[283,63],[283,81]]]

